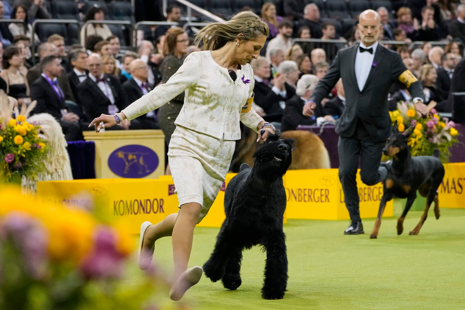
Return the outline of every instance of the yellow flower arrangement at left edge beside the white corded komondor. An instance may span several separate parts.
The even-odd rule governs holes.
[[[0,183],[19,183],[23,175],[34,179],[45,169],[46,143],[39,136],[40,126],[26,121],[34,106],[35,102],[24,105],[19,112],[0,92]]]

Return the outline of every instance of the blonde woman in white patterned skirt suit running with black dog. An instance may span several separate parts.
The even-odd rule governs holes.
[[[197,35],[205,51],[193,52],[165,84],[133,102],[117,115],[102,115],[89,125],[98,132],[131,120],[169,102],[185,91],[168,147],[168,161],[179,199],[179,212],[140,230],[139,266],[147,269],[157,239],[172,236],[176,281],[170,291],[179,300],[199,282],[202,268],[187,269],[193,230],[213,204],[240,139],[239,120],[266,139],[274,127],[252,109],[253,71],[250,60],[259,57],[268,26],[252,12],[240,12],[225,23],[213,23]],[[102,125],[99,125],[103,122]]]

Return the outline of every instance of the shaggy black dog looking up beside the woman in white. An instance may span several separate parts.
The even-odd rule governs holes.
[[[286,191],[283,175],[291,165],[293,139],[270,135],[253,154],[253,168],[242,164],[225,192],[226,219],[221,226],[212,255],[204,264],[206,277],[221,279],[226,289],[241,284],[242,251],[253,245],[266,251],[265,283],[262,297],[281,299],[287,284],[286,236],[283,215]]]

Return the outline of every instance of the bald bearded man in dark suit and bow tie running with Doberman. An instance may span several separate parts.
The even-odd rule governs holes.
[[[344,234],[363,233],[359,194],[355,179],[361,156],[360,177],[366,185],[386,178],[388,166],[380,166],[381,152],[392,130],[387,96],[392,82],[404,83],[414,97],[414,105],[422,114],[421,83],[407,70],[400,55],[378,44],[381,30],[379,15],[373,10],[360,14],[357,29],[361,42],[339,50],[328,73],[321,79],[304,106],[303,114],[312,116],[313,108],[331,91],[339,78],[344,81],[345,109],[336,124],[339,134],[339,178],[345,195],[345,206],[352,223]]]

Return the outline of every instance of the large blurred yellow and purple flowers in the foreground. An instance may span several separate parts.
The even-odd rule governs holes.
[[[156,309],[170,285],[156,268],[124,283],[124,226],[13,186],[0,197],[0,309]]]

